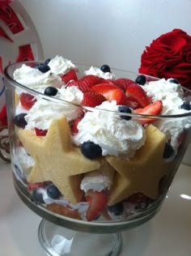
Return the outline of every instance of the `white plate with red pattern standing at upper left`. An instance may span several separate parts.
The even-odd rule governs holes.
[[[5,66],[12,62],[43,59],[36,28],[19,0],[0,6],[0,45],[0,109],[2,109],[5,104],[2,83]]]

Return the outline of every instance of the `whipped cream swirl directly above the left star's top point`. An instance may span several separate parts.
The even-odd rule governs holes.
[[[26,129],[34,129],[36,127],[41,130],[48,130],[53,119],[64,115],[70,122],[79,116],[82,109],[77,105],[83,100],[83,92],[79,91],[77,87],[62,87],[58,89],[55,97],[68,102],[62,101],[59,103],[42,98],[37,100],[25,116],[25,120],[28,122],[27,126],[25,126]]]

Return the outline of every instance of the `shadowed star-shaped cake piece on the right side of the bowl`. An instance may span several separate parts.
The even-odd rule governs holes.
[[[165,143],[165,134],[149,125],[146,127],[146,143],[133,158],[121,160],[116,156],[106,156],[108,163],[117,170],[115,182],[108,192],[108,204],[118,203],[138,192],[150,198],[157,197],[159,180],[169,168],[163,160]]]

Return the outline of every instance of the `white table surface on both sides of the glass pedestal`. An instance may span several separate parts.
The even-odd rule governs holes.
[[[191,200],[180,197],[191,198],[190,183],[191,166],[182,164],[155,218],[123,233],[121,256],[191,255]],[[15,193],[11,165],[0,160],[0,256],[44,256],[37,237],[39,224],[40,217]]]

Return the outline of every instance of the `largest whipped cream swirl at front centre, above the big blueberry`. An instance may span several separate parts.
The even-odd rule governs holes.
[[[94,111],[87,112],[79,122],[78,134],[73,136],[74,143],[94,142],[102,148],[103,156],[133,157],[135,151],[145,143],[145,130],[135,120],[122,119],[115,113],[117,109],[116,100],[112,100],[104,101]]]

